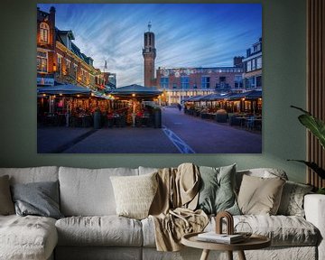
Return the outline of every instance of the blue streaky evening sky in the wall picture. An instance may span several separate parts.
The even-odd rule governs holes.
[[[115,72],[117,86],[144,83],[144,32],[152,23],[158,67],[232,66],[262,36],[259,4],[40,4],[56,8],[94,66]]]

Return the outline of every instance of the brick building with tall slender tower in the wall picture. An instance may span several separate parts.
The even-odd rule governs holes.
[[[150,28],[149,23],[148,32],[144,32],[144,86],[163,89],[163,103],[174,105],[184,98],[244,90],[242,56],[234,57],[230,67],[158,68],[154,77],[156,49]]]

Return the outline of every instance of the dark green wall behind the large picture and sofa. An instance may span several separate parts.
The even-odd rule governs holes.
[[[69,1],[89,3],[91,1]],[[97,3],[105,1],[97,1]],[[147,1],[150,3],[149,1]],[[180,1],[173,1],[179,2]],[[187,1],[195,3],[196,1]],[[246,3],[247,1],[236,1]],[[0,10],[0,167],[66,165],[76,167],[175,166],[183,162],[239,169],[278,167],[293,181],[305,181],[305,168],[287,158],[305,158],[305,131],[290,105],[305,107],[306,31],[304,0],[249,1],[263,5],[263,153],[248,154],[37,154],[36,4],[3,1]],[[42,3],[51,3],[42,1]],[[56,3],[64,3],[58,1]],[[129,3],[132,3],[129,1]],[[139,2],[140,3],[140,2]],[[144,3],[144,1],[142,2]],[[166,1],[164,1],[166,3]],[[172,3],[172,2],[171,2]],[[185,3],[185,2],[184,2]],[[206,3],[213,3],[206,1]],[[216,1],[216,3],[230,3]]]

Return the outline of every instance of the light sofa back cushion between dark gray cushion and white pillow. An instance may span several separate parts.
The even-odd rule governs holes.
[[[60,210],[64,216],[116,215],[110,176],[137,175],[137,169],[60,167]]]

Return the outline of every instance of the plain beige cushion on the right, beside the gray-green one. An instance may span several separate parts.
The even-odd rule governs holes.
[[[243,214],[272,214],[279,209],[284,180],[244,175],[238,194],[238,205]]]

